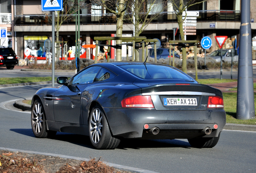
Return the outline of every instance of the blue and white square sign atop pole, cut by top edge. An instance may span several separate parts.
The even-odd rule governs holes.
[[[61,11],[63,0],[41,0],[42,11]]]

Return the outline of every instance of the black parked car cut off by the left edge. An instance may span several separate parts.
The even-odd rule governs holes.
[[[18,64],[18,59],[12,48],[0,47],[0,66],[13,69]]]

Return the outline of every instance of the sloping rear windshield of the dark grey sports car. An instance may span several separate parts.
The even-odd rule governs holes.
[[[163,66],[156,64],[127,64],[120,65],[122,69],[138,76],[142,79],[185,79],[192,80],[186,74],[171,66]]]

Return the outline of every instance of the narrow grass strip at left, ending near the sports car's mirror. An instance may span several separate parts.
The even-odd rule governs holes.
[[[57,78],[54,80],[56,81]],[[0,78],[0,84],[17,84],[29,82],[45,82],[52,81],[52,77],[16,77],[16,78]]]

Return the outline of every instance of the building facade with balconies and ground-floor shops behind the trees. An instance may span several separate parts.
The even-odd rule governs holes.
[[[160,1],[160,0],[159,0]],[[256,3],[251,0],[251,27],[252,37],[256,36]],[[162,46],[167,46],[168,40],[173,40],[173,28],[178,28],[177,17],[173,12],[171,3],[163,14],[145,29],[140,36],[147,38],[159,38]],[[241,0],[208,0],[201,4],[191,6],[188,11],[198,11],[196,17],[196,34],[187,35],[187,40],[201,40],[204,36],[209,36],[213,41],[213,46],[208,52],[218,49],[214,36],[228,36],[225,48],[239,46],[239,28],[241,18]],[[65,8],[65,7],[64,7]],[[93,44],[95,36],[111,36],[116,33],[116,18],[105,10],[80,10],[80,40],[82,44]],[[47,38],[52,40],[51,13],[42,12],[41,0],[0,0],[0,26],[8,28],[8,45],[11,46],[19,56],[25,56],[27,48],[34,52],[36,56],[45,56],[44,41]],[[11,21],[8,20],[11,18]],[[255,21],[254,21],[255,19]],[[7,22],[6,22],[7,21]],[[132,34],[131,26],[124,25],[123,34]],[[72,47],[75,44],[75,15],[71,15],[63,22],[59,30],[59,40],[62,48]],[[179,40],[179,31],[175,35],[175,40]],[[236,44],[234,45],[234,40]],[[232,44],[233,42],[233,44]],[[254,45],[256,50],[256,39]],[[253,47],[254,48],[254,47]],[[38,50],[42,53],[37,54]],[[88,49],[87,57],[92,51]],[[40,51],[39,51],[40,52]],[[64,55],[64,50],[60,56]],[[253,56],[253,58],[256,58]]]

